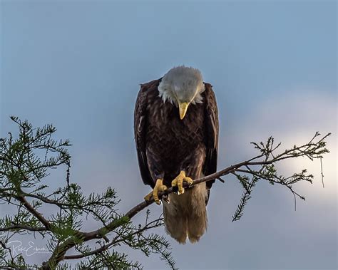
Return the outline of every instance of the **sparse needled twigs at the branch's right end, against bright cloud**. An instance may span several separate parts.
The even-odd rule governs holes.
[[[326,148],[327,142],[325,142],[325,139],[330,133],[315,142],[319,135],[319,133],[316,133],[307,144],[301,146],[294,145],[292,149],[285,150],[280,154],[276,154],[276,150],[280,147],[281,143],[275,146],[273,137],[269,137],[266,143],[251,142],[255,149],[260,152],[260,155],[253,157],[247,162],[243,162],[243,167],[245,167],[245,169],[236,168],[231,172],[232,175],[237,177],[237,180],[240,181],[242,187],[245,189],[245,192],[243,192],[242,198],[240,199],[240,204],[238,204],[235,214],[232,216],[232,222],[237,221],[242,217],[245,205],[251,198],[252,188],[255,187],[259,180],[267,180],[271,185],[279,184],[290,189],[295,198],[295,207],[296,197],[305,200],[304,196],[295,192],[292,185],[301,181],[312,184],[314,176],[307,174],[307,170],[304,169],[301,172],[295,172],[289,177],[285,177],[278,174],[275,164],[281,160],[293,157],[308,157],[310,160],[317,158],[322,159],[322,155],[329,152]]]

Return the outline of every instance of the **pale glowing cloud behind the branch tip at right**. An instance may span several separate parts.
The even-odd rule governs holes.
[[[293,145],[309,142],[317,131],[322,135],[332,133],[327,137],[327,148],[330,152],[324,155],[322,160],[324,184],[327,186],[324,192],[321,188],[320,160],[312,162],[305,157],[297,158],[280,162],[278,167],[285,174],[308,168],[308,171],[314,175],[314,185],[304,185],[305,192],[335,199],[337,194],[337,100],[332,96],[323,95],[318,89],[301,88],[289,91],[286,95],[274,92],[262,100],[254,111],[255,113],[248,116],[247,121],[241,123],[237,130],[232,131],[232,137],[227,137],[227,141],[220,142],[221,145],[225,144],[227,155],[240,149],[240,155],[251,157],[255,154],[255,150],[245,144],[251,141],[264,142],[270,135],[275,138],[275,143],[282,142],[280,150],[285,150]]]

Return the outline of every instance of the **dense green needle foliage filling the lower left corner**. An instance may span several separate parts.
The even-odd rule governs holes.
[[[27,121],[11,119],[19,126],[19,136],[14,139],[9,133],[0,139],[0,201],[11,204],[16,211],[0,219],[0,267],[34,267],[27,265],[21,254],[11,254],[6,246],[11,237],[28,232],[46,238],[51,257],[42,264],[43,269],[68,269],[69,264],[63,259],[76,259],[66,254],[71,247],[80,259],[76,264],[78,269],[142,268],[137,261],[130,261],[127,254],[116,250],[121,245],[138,249],[146,256],[159,254],[167,264],[175,265],[169,242],[157,234],[147,233],[163,225],[162,217],[150,222],[147,213],[145,224],[135,226],[129,217],[116,211],[120,200],[111,187],[102,194],[83,194],[81,187],[69,179],[69,141],[54,140],[53,125],[33,128]],[[60,166],[66,167],[65,178],[60,181],[64,186],[50,190],[42,181],[46,181],[50,170]],[[56,211],[40,214],[46,205]],[[81,231],[83,222],[88,219],[98,223],[96,231]],[[96,239],[96,244],[88,244],[90,239]]]

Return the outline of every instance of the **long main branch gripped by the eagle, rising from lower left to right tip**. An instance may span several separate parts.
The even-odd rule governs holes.
[[[318,135],[319,133],[316,133],[314,137],[317,137]],[[276,175],[272,175],[271,177],[269,177],[268,174],[263,172],[267,168],[268,165],[273,165],[275,164],[275,162],[278,162],[280,160],[286,160],[286,159],[304,156],[304,155],[309,157],[312,160],[313,158],[322,157],[321,154],[324,152],[327,152],[328,150],[326,149],[323,150],[323,147],[325,146],[325,144],[323,145],[320,142],[323,142],[324,139],[329,135],[330,134],[325,135],[317,143],[313,143],[313,140],[314,140],[314,137],[313,137],[309,143],[305,145],[301,145],[299,147],[295,146],[290,150],[285,150],[285,152],[282,152],[279,155],[272,155],[272,152],[275,151],[277,147],[280,146],[280,144],[277,145],[276,147],[273,147],[273,139],[270,137],[270,139],[267,142],[267,145],[264,145],[262,142],[261,142],[261,145],[254,143],[255,148],[259,149],[262,152],[261,155],[257,155],[256,157],[252,157],[250,160],[239,162],[235,165],[231,165],[230,167],[220,170],[219,172],[215,172],[211,175],[207,175],[205,177],[201,177],[197,180],[194,180],[190,186],[186,182],[184,182],[183,187],[185,188],[193,187],[194,185],[198,185],[202,182],[208,182],[211,180],[219,179],[220,177],[223,177],[230,173],[235,174],[236,172],[245,172],[246,174],[253,175],[255,177],[255,179],[252,180],[252,182],[249,184],[250,189],[251,189],[255,185],[255,182],[257,182],[257,180],[259,179],[271,181],[271,177],[272,177],[272,180],[273,180],[273,177],[276,177]],[[270,156],[272,156],[272,158],[270,158]],[[261,168],[258,171],[251,170],[250,167],[252,166],[261,166]],[[249,169],[249,170],[243,170],[241,169],[242,167],[245,167],[246,169]],[[283,182],[277,182],[277,183],[287,186],[292,191],[292,194],[294,194],[294,196],[295,194],[297,194],[292,189],[292,187],[290,187],[290,185],[286,185]],[[160,192],[158,197],[161,199],[163,196],[168,196],[168,194],[172,192],[173,192],[173,187],[170,187],[166,189],[164,192]],[[248,194],[245,194],[245,199],[249,199],[250,198],[249,195],[250,195],[250,190]],[[300,198],[304,198],[299,194],[297,194],[297,196]],[[96,229],[92,232],[86,232],[86,233],[79,232],[81,234],[83,242],[86,242],[91,239],[100,239],[100,238],[105,237],[106,234],[108,234],[109,232],[112,232],[114,229],[119,227],[121,224],[128,222],[130,219],[132,219],[135,216],[135,214],[138,214],[138,212],[142,211],[143,209],[148,207],[150,204],[153,204],[153,202],[154,202],[153,198],[150,198],[149,201],[140,202],[135,207],[130,209],[128,212],[126,212],[126,214],[124,214],[123,217],[120,217],[119,219],[114,220],[113,222],[107,224],[105,227],[101,227],[100,229]],[[243,201],[243,205],[241,206],[241,209],[244,206],[244,204],[245,204],[245,201]],[[51,256],[48,262],[49,263],[54,262],[57,264],[62,259],[65,259],[66,251],[68,249],[71,249],[71,247],[75,246],[75,244],[76,242],[74,242],[72,239],[69,239],[64,244],[61,244],[62,248],[58,249],[58,252],[53,253],[53,255]],[[55,258],[56,258],[56,261],[55,261]],[[45,265],[49,265],[49,263]],[[51,264],[51,265],[56,265],[56,264]]]

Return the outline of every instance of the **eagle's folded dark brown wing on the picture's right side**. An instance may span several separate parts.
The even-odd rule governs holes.
[[[207,156],[203,166],[203,174],[210,175],[217,170],[217,151],[218,151],[218,110],[215,93],[212,85],[205,83],[204,100],[205,103],[205,146]],[[215,180],[208,181],[207,187],[211,187]]]

